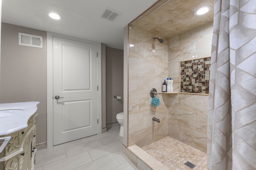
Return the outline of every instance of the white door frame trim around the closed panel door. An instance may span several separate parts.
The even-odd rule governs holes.
[[[92,43],[98,52],[98,134],[102,132],[101,43],[47,32],[47,148],[53,147],[53,36]]]

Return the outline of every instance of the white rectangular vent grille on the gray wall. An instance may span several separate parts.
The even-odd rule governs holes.
[[[19,33],[19,45],[43,48],[43,37]]]

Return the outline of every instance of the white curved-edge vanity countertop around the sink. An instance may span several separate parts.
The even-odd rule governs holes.
[[[8,135],[28,127],[28,119],[36,113],[39,102],[20,102],[0,104],[0,135]],[[18,113],[10,113],[1,117],[1,111],[22,109]]]

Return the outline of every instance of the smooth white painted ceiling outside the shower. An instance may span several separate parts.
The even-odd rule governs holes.
[[[2,0],[2,22],[105,43],[123,49],[124,27],[157,0]],[[121,15],[100,18],[104,8]],[[47,12],[60,14],[53,20]]]

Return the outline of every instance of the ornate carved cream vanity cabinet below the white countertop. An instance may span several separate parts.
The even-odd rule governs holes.
[[[34,170],[36,151],[36,115],[28,119],[28,127],[10,133],[12,139],[0,154],[0,170]]]

